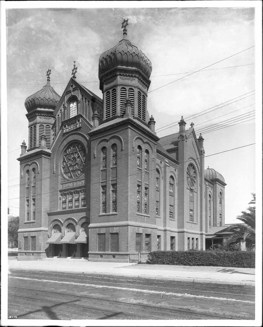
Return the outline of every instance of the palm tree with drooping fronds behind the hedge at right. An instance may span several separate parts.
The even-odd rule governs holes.
[[[255,193],[251,193],[252,200],[249,204],[256,203]],[[231,243],[245,241],[247,249],[253,249],[255,247],[255,206],[249,206],[247,211],[242,211],[241,215],[237,219],[241,220],[243,224],[235,224],[229,226],[227,232],[232,232],[233,234],[226,240],[224,248]]]

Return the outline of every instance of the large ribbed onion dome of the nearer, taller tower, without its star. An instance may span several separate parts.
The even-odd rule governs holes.
[[[110,50],[102,53],[99,59],[99,78],[102,74],[117,67],[139,69],[147,78],[152,72],[152,64],[146,55],[129,40],[122,39]]]

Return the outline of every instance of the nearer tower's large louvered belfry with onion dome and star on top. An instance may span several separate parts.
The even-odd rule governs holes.
[[[127,40],[128,19],[122,23],[123,38],[102,53],[99,59],[100,89],[103,93],[103,121],[123,117],[131,99],[131,115],[148,126],[147,91],[152,64],[146,55]]]

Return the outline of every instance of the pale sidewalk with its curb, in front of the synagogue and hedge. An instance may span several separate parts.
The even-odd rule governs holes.
[[[154,280],[255,286],[255,268],[147,265],[74,259],[8,260],[9,269],[76,272]]]

